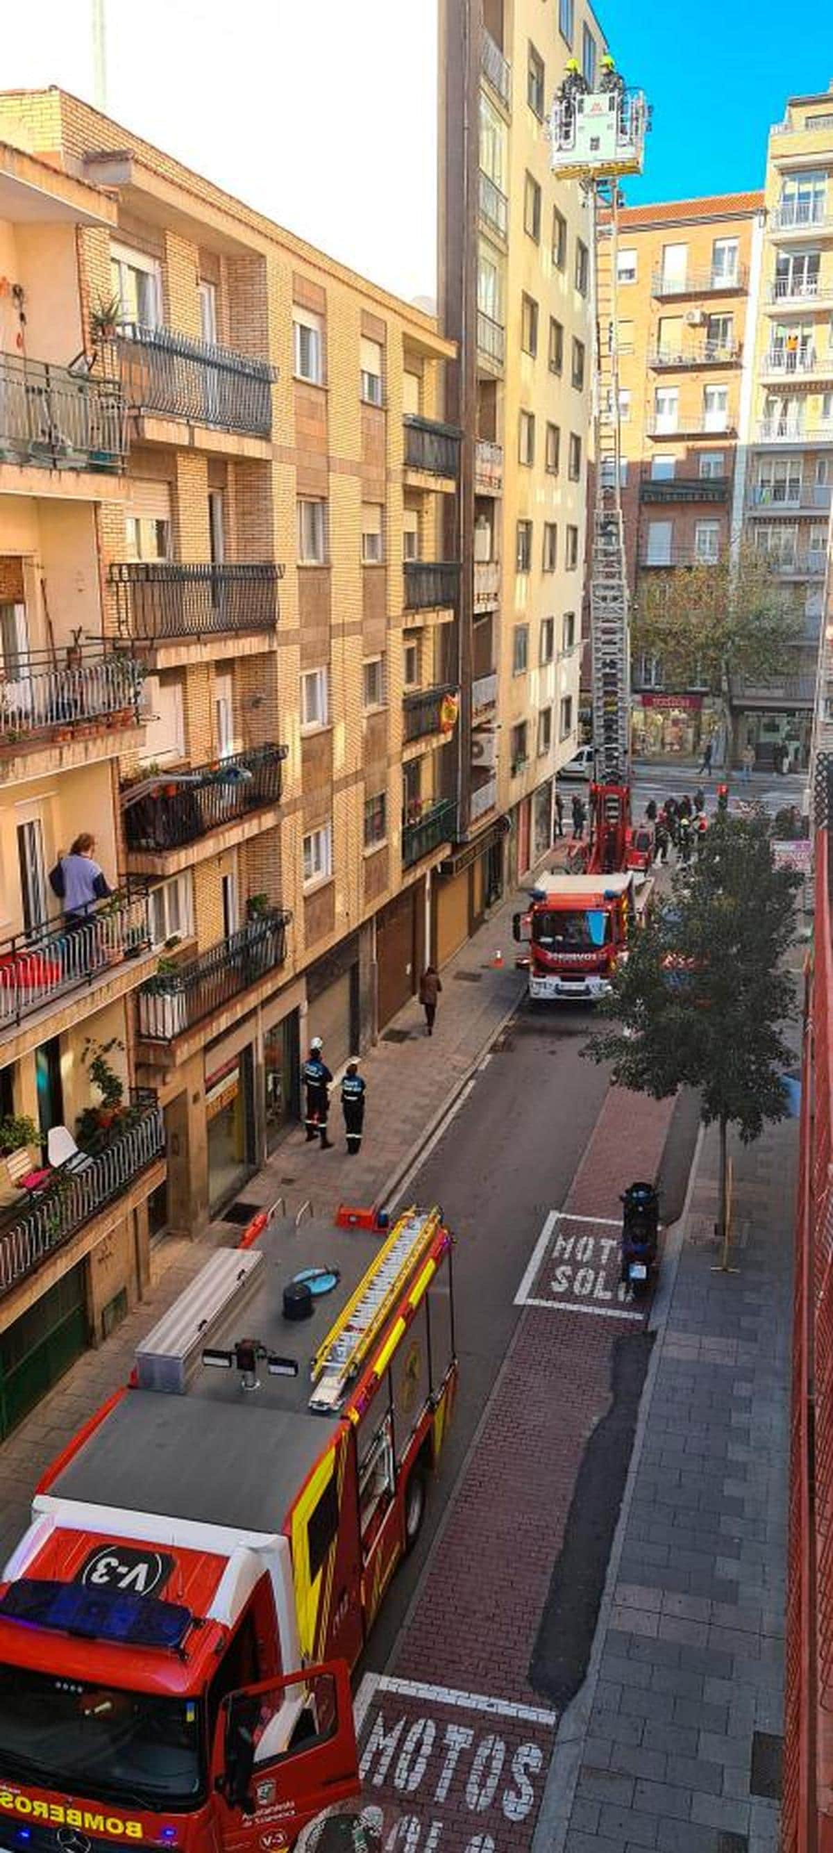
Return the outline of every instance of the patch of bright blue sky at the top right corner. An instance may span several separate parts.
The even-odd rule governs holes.
[[[624,76],[653,104],[644,174],[626,182],[631,206],[761,187],[766,133],[787,96],[833,82],[827,0],[596,0],[596,9]]]

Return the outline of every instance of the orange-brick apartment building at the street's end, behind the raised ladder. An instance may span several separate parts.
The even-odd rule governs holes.
[[[763,193],[729,193],[618,217],[622,511],[631,600],[652,578],[726,558],[733,528],[750,287]],[[692,754],[722,704],[668,687],[663,663],[633,656],[635,752]]]

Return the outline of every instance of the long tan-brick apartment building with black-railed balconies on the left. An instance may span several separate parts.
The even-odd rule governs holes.
[[[104,1223],[89,1169],[57,1219],[9,1179],[0,1321],[11,1360],[20,1293],[57,1330],[48,1379],[435,945],[459,434],[431,317],[57,89],[0,135],[0,1117],[46,1167],[104,1049],[137,1147]],[[117,888],[83,945],[46,876],[80,828]]]

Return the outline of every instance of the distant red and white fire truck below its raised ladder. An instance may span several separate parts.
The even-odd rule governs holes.
[[[626,869],[613,875],[542,875],[515,939],[529,945],[518,965],[529,971],[529,999],[596,1002],[628,949],[633,925],[650,904],[652,882]]]

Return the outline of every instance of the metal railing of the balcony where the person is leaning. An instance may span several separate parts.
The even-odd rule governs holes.
[[[148,897],[118,889],[72,926],[44,921],[0,941],[0,1030],[81,991],[150,947]]]

